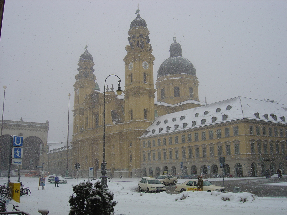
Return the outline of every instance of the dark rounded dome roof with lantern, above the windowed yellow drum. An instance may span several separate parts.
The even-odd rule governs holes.
[[[182,56],[181,45],[175,40],[169,48],[170,56],[166,59],[158,69],[158,78],[164,75],[172,74],[189,74],[196,76],[196,70],[193,64]]]

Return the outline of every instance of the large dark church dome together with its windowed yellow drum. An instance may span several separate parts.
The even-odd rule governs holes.
[[[157,101],[177,104],[187,100],[199,101],[196,69],[182,56],[181,45],[176,41],[170,45],[170,57],[158,69],[156,80]]]

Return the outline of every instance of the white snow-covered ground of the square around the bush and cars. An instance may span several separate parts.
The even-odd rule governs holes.
[[[254,178],[256,179],[256,177]],[[228,179],[226,178],[226,180]],[[232,178],[232,180],[234,179],[236,178]],[[252,178],[249,177],[248,179]],[[55,184],[46,183],[46,190],[38,190],[39,181],[37,178],[21,177],[20,180],[25,187],[31,189],[31,196],[20,197],[20,203],[10,201],[8,209],[11,210],[15,204],[19,205],[19,209],[31,215],[39,215],[37,212],[39,209],[49,209],[51,215],[69,214],[68,200],[69,196],[73,194],[72,185],[76,184],[76,179],[67,179],[68,182],[59,184],[59,187],[55,187]],[[78,182],[84,180],[87,179],[79,179]],[[219,179],[209,180],[218,181]],[[11,178],[11,181],[17,181],[17,178]],[[251,193],[219,193],[215,191],[183,192],[173,195],[166,192],[138,193],[134,191],[138,181],[138,178],[108,181],[109,189],[115,194],[114,200],[118,202],[115,206],[116,215],[287,214],[287,198],[262,198]],[[184,181],[186,179],[178,180],[179,183]],[[0,178],[0,184],[3,185],[4,182],[7,182],[7,178]],[[272,183],[270,185],[286,186],[286,183]]]

